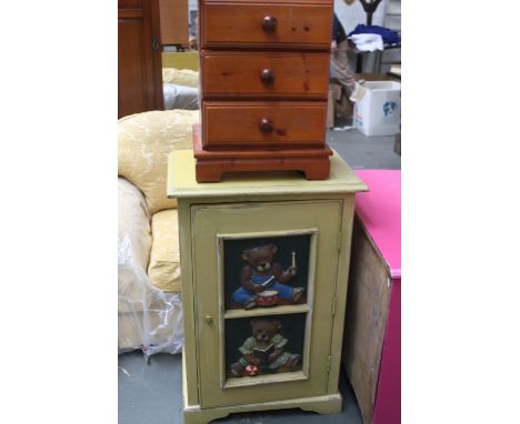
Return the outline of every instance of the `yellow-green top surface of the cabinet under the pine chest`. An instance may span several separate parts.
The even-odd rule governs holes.
[[[306,180],[297,171],[236,172],[221,182],[198,183],[192,150],[173,151],[168,157],[168,198],[254,196],[277,194],[354,193],[367,185],[334,152],[327,180]]]

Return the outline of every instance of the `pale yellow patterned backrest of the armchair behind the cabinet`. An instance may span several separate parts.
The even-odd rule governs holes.
[[[200,122],[197,110],[137,113],[118,121],[118,174],[137,185],[150,213],[177,208],[167,198],[168,154],[192,148],[192,125]]]

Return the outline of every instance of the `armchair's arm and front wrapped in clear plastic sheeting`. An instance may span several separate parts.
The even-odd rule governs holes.
[[[181,293],[164,293],[147,274],[150,215],[143,194],[119,178],[118,350],[147,356],[182,350]]]

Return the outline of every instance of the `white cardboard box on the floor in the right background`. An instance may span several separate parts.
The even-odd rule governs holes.
[[[364,81],[356,87],[356,128],[367,137],[397,134],[401,124],[401,84],[396,81]]]

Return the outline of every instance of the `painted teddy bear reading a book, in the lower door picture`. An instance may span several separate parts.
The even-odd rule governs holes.
[[[289,341],[280,334],[280,320],[253,319],[249,322],[252,335],[239,347],[242,356],[231,365],[233,376],[241,377],[244,371],[248,375],[287,372],[298,365],[300,355],[284,351]]]

